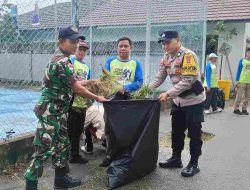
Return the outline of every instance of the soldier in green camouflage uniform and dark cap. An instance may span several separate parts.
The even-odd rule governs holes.
[[[37,179],[43,173],[43,163],[52,156],[55,168],[54,186],[71,188],[81,185],[80,180],[69,177],[67,161],[70,142],[67,133],[67,114],[73,91],[99,102],[106,101],[102,96],[90,93],[84,86],[85,80],[78,81],[73,74],[73,65],[69,61],[74,54],[79,39],[84,39],[74,27],[65,27],[59,31],[59,47],[45,70],[42,95],[34,108],[38,118],[35,133],[35,153],[24,176],[26,190],[37,190]]]

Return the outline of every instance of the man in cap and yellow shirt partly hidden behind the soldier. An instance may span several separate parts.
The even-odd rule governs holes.
[[[74,66],[74,74],[80,80],[90,79],[90,69],[88,65],[83,61],[88,49],[89,47],[87,43],[80,40],[78,42],[75,56],[72,56],[70,58],[71,63]],[[82,156],[79,154],[79,142],[84,128],[86,109],[91,106],[91,104],[91,100],[76,95],[74,97],[73,104],[69,109],[68,134],[71,144],[69,159],[70,163],[84,164],[88,162],[87,159],[82,158]]]

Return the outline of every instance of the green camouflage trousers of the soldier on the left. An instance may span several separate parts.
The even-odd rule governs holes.
[[[47,112],[48,113],[48,112]],[[45,116],[45,117],[44,117]],[[52,157],[54,168],[67,166],[70,142],[67,133],[67,114],[52,116],[43,114],[38,116],[39,122],[34,138],[35,153],[24,177],[29,181],[36,181],[42,176],[43,163]]]

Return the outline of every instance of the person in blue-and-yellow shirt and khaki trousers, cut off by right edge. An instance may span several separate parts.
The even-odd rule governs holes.
[[[250,100],[250,48],[246,50],[246,57],[241,59],[236,74],[237,96],[234,103],[234,113],[239,115],[249,115],[247,111]],[[243,98],[242,112],[240,111],[240,102]]]

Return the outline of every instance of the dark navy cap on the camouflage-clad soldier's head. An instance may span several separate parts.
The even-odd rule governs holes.
[[[59,30],[59,38],[65,38],[70,40],[85,40],[84,36],[81,36],[74,26],[67,26]]]

